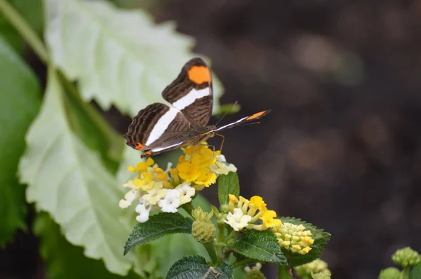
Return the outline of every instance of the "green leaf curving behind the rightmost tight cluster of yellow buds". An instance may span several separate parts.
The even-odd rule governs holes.
[[[314,243],[310,246],[312,247],[312,250],[310,250],[308,254],[290,254],[288,250],[282,248],[283,254],[285,254],[287,258],[290,257],[290,267],[301,266],[302,264],[307,264],[310,261],[314,261],[321,257],[323,248],[330,240],[330,233],[326,233],[326,231],[323,231],[322,229],[317,229],[316,226],[295,217],[281,217],[280,219],[282,223],[291,223],[295,225],[302,224],[302,226],[305,226],[306,230],[312,232],[312,238],[314,239]]]

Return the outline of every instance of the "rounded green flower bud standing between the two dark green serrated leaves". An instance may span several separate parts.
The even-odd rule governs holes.
[[[195,240],[200,243],[208,243],[215,238],[216,228],[215,225],[210,222],[213,211],[210,213],[203,212],[201,207],[197,207],[192,211],[194,222],[192,225],[192,236]]]

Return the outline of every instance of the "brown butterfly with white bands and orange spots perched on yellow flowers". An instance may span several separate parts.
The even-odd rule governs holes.
[[[213,107],[212,74],[199,57],[182,67],[177,79],[163,90],[162,97],[173,107],[158,102],[149,104],[133,118],[124,135],[128,146],[143,151],[141,158],[197,145],[215,135],[223,137],[220,131],[269,113],[260,111],[219,128],[207,125]]]

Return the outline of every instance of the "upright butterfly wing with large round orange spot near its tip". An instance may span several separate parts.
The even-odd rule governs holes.
[[[194,126],[208,124],[212,115],[212,74],[206,62],[193,58],[182,67],[180,74],[162,93]]]

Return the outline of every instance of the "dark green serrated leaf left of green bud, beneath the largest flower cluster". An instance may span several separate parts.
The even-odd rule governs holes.
[[[192,233],[192,224],[192,219],[182,217],[179,213],[161,212],[152,215],[147,222],[135,226],[124,246],[124,254],[135,246],[149,243],[168,234]]]

